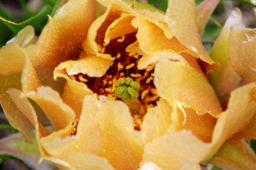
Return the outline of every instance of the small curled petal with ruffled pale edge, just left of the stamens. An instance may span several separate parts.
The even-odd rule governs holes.
[[[54,70],[55,78],[57,74],[87,74],[89,77],[102,77],[112,65],[112,58],[88,55],[78,61],[66,61]]]

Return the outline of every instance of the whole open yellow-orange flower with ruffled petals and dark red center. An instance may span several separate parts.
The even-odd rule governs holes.
[[[233,90],[222,112],[194,1],[170,0],[166,15],[99,2],[106,10],[95,18],[96,1],[69,0],[37,42],[27,27],[1,48],[0,103],[11,125],[27,142],[35,128],[42,159],[59,169],[200,169],[254,117],[256,84]]]

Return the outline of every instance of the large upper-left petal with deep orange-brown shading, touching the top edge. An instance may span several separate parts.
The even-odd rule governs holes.
[[[80,43],[95,18],[93,4],[92,0],[69,0],[50,18],[37,43],[25,48],[34,66],[53,69],[61,61],[78,57]]]

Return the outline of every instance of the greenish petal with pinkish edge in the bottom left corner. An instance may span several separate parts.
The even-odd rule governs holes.
[[[35,170],[56,169],[52,163],[48,161],[40,161],[40,152],[38,150],[37,142],[28,144],[23,141],[23,137],[20,134],[1,139],[0,154],[15,156]]]

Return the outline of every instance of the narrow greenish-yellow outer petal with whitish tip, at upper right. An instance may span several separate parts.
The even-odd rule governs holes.
[[[240,83],[241,78],[230,64],[229,56],[233,58],[233,55],[228,52],[229,47],[232,46],[229,45],[228,39],[231,27],[244,27],[241,19],[241,11],[234,9],[229,18],[227,18],[221,34],[214,43],[214,47],[211,49],[211,58],[219,63],[220,66],[214,69],[214,71],[209,74],[208,78],[220,98],[229,95]]]

